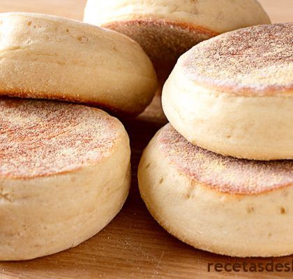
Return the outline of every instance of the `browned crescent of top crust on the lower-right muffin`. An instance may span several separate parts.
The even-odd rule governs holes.
[[[293,160],[256,161],[221,156],[190,144],[170,124],[158,140],[167,160],[197,183],[222,193],[253,195],[293,186]]]

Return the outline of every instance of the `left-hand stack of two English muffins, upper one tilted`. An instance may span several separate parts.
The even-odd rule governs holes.
[[[32,259],[77,246],[120,211],[129,138],[107,112],[140,114],[157,79],[120,33],[31,13],[0,22],[0,260]]]

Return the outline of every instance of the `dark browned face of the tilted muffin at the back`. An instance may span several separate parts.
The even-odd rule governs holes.
[[[181,54],[202,40],[218,35],[193,24],[153,18],[107,22],[102,27],[137,41],[151,58],[161,82],[167,79]]]

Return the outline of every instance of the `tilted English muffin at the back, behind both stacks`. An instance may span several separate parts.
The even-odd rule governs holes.
[[[84,21],[140,43],[162,81],[179,56],[202,40],[270,23],[255,0],[88,0]]]

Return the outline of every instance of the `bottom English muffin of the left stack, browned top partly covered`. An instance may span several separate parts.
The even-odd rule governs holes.
[[[0,131],[0,260],[77,246],[120,211],[130,147],[117,119],[82,105],[2,98]]]

